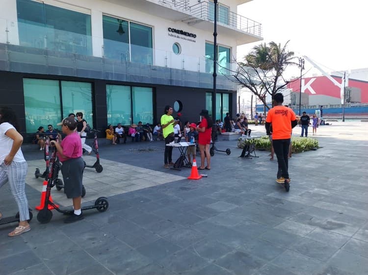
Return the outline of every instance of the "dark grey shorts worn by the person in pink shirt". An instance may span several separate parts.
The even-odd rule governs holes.
[[[84,161],[82,158],[65,160],[61,166],[63,174],[64,193],[68,199],[82,195]]]

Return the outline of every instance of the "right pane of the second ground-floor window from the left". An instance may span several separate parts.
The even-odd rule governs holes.
[[[133,123],[153,124],[152,88],[132,87]]]

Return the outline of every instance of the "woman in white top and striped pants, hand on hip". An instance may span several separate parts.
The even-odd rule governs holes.
[[[27,162],[23,157],[21,145],[23,137],[18,128],[15,113],[7,107],[0,108],[0,187],[9,182],[11,192],[18,204],[20,222],[18,227],[8,234],[14,237],[30,230],[28,201],[25,185]],[[0,213],[0,219],[2,215]]]

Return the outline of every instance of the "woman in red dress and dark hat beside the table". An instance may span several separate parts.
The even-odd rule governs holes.
[[[201,152],[201,166],[199,170],[211,169],[210,143],[212,134],[212,119],[208,115],[208,110],[202,110],[199,114],[202,116],[201,123],[197,127],[198,131],[198,146]],[[207,159],[207,166],[205,166],[205,152]]]

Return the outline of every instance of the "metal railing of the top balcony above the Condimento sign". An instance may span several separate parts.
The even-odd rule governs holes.
[[[214,4],[202,1],[190,7],[190,14],[206,21],[214,21]],[[221,5],[218,6],[217,23],[262,37],[261,23],[231,12]]]

